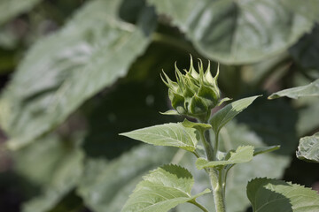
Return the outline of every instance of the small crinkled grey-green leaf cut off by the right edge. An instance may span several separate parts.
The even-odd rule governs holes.
[[[301,160],[319,163],[319,133],[301,138],[296,155]]]

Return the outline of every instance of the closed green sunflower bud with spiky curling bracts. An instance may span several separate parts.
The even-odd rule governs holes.
[[[217,85],[219,68],[213,77],[210,72],[210,62],[208,61],[207,69],[204,71],[203,62],[199,60],[198,72],[196,72],[191,57],[189,71],[183,71],[185,74],[180,72],[175,64],[176,82],[169,79],[163,72],[166,80],[162,79],[168,87],[172,106],[181,115],[206,120],[215,106],[228,100],[228,98],[221,100],[221,92]]]

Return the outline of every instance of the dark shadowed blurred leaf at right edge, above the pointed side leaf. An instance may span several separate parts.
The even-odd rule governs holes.
[[[319,4],[319,2],[318,2]],[[318,5],[319,6],[319,5]],[[317,9],[315,9],[318,11]],[[319,19],[318,19],[319,20]],[[319,70],[319,26],[316,25],[310,34],[305,34],[299,42],[289,49],[292,57],[304,69]]]

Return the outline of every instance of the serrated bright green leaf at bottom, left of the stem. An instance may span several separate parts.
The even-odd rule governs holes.
[[[164,165],[144,176],[144,180],[136,186],[121,211],[166,212],[179,204],[194,201],[198,196],[210,193],[206,189],[191,196],[193,184],[194,178],[188,170],[177,165]]]

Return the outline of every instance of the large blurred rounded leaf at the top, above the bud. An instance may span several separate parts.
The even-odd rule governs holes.
[[[253,63],[274,56],[314,25],[287,6],[290,0],[148,2],[169,16],[199,52],[224,64]]]

